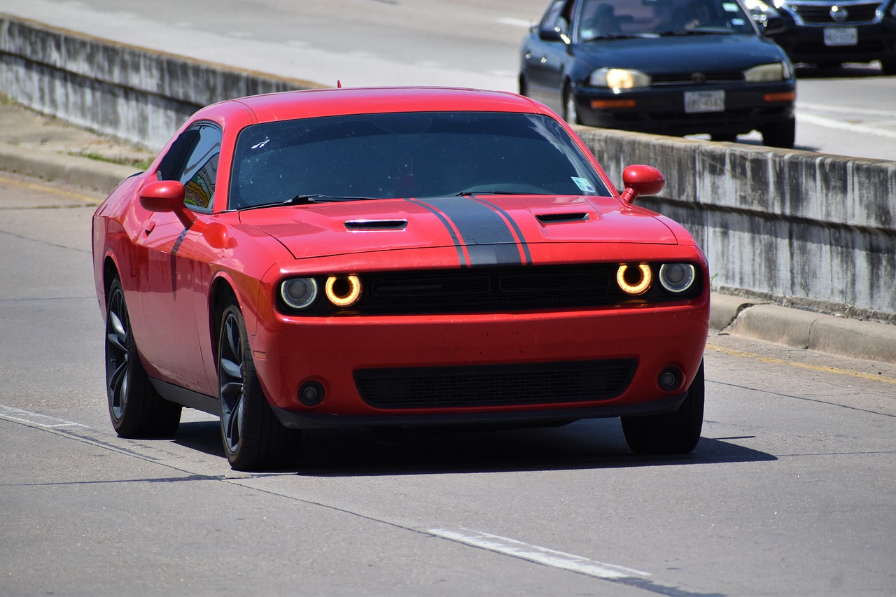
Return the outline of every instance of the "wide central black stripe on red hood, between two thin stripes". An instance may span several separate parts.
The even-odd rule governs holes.
[[[438,197],[426,203],[443,212],[457,227],[470,265],[520,265],[513,232],[492,207],[470,197]]]

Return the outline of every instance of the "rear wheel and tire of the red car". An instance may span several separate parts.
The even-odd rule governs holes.
[[[121,280],[109,285],[106,303],[106,394],[109,419],[120,437],[168,437],[180,424],[180,404],[152,386],[140,360]]]

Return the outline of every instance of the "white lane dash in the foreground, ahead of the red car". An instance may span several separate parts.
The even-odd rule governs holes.
[[[473,531],[471,529],[427,529],[437,537],[450,539],[473,547],[488,549],[497,553],[503,553],[514,558],[537,562],[545,566],[570,570],[583,575],[595,576],[605,580],[619,580],[622,578],[644,578],[650,576],[649,572],[634,570],[616,566],[615,564],[605,564],[593,559],[583,558],[571,553],[556,551],[555,549],[547,549],[530,545],[515,539],[508,539],[498,535],[492,535],[487,532]]]

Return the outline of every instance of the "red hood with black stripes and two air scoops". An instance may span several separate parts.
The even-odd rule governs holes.
[[[240,212],[244,224],[277,238],[297,259],[452,247],[500,263],[550,243],[672,245],[668,226],[615,197],[483,195],[271,207]],[[534,249],[532,249],[534,251]]]

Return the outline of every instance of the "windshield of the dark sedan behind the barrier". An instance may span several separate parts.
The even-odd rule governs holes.
[[[576,33],[581,41],[755,33],[750,18],[734,0],[585,0],[578,16]]]

